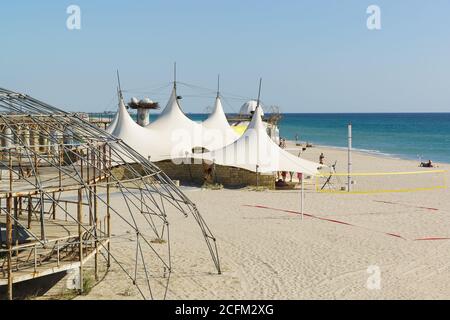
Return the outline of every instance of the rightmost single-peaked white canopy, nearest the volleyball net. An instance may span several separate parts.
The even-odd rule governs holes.
[[[298,158],[275,144],[267,134],[262,121],[262,109],[259,107],[247,131],[233,144],[204,154],[191,154],[191,157],[260,173],[288,171],[315,175],[321,167],[320,164]]]

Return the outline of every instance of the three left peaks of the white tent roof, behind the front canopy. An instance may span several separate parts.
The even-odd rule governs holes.
[[[145,128],[131,118],[121,99],[119,112],[107,132],[153,162],[185,157],[194,148],[219,149],[237,139],[225,117],[220,99],[216,100],[214,112],[200,124],[183,113],[175,88],[161,115]]]

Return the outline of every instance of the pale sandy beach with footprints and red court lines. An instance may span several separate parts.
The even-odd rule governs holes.
[[[295,148],[292,144],[289,149]],[[293,150],[295,152],[295,150]],[[304,158],[337,160],[347,153],[314,147]],[[450,165],[438,164],[449,170]],[[417,161],[353,154],[355,172],[419,169]],[[448,173],[447,173],[448,175]],[[388,178],[387,178],[388,179]],[[447,189],[383,194],[306,192],[302,221],[299,192],[183,188],[218,240],[223,274],[214,266],[198,226],[169,210],[173,274],[168,299],[447,299],[450,296],[450,197]],[[113,200],[114,201],[114,200]],[[262,209],[251,206],[266,206]],[[277,210],[275,210],[277,209]],[[120,221],[115,232],[125,233]],[[135,244],[113,250],[132,257]],[[370,267],[380,288],[368,289]],[[373,269],[371,269],[373,270]],[[370,270],[369,270],[370,271]],[[140,299],[117,265],[91,293],[78,299]]]

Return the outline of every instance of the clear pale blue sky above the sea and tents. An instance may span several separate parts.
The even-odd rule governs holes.
[[[81,8],[69,31],[66,8]],[[369,31],[366,9],[381,8]],[[66,110],[116,108],[127,97],[165,105],[180,81],[214,89],[227,112],[255,97],[283,112],[450,111],[450,1],[8,1],[0,5],[0,86]],[[165,87],[164,87],[165,86]],[[214,94],[180,86],[187,112]],[[243,99],[243,98],[242,98]]]

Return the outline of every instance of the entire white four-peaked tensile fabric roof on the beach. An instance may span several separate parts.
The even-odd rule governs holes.
[[[272,141],[262,121],[262,114],[262,108],[256,108],[247,130],[237,139],[226,119],[220,97],[216,99],[212,114],[199,124],[183,113],[174,89],[161,115],[145,128],[131,118],[121,100],[119,112],[107,131],[143,156],[150,157],[153,162],[185,159],[188,154],[195,159],[215,161],[219,165],[253,172],[258,166],[261,173],[291,171],[317,174],[319,164],[300,159]],[[192,154],[195,147],[211,151]]]

